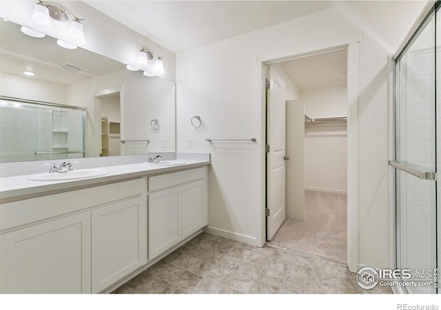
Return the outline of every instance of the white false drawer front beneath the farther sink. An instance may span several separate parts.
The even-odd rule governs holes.
[[[205,177],[205,167],[190,169],[180,172],[172,172],[171,174],[162,174],[160,176],[150,176],[149,192],[158,189],[173,187],[182,183],[200,180]]]

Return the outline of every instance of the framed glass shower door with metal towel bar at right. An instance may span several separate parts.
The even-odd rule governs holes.
[[[436,109],[435,69],[441,68],[441,59],[436,52],[435,18],[433,10],[396,60],[396,161],[391,163],[397,168],[397,269],[423,275],[438,267],[437,193],[441,192],[436,173],[441,109]],[[420,278],[415,279],[416,286],[404,290],[438,292],[433,282],[428,285]]]

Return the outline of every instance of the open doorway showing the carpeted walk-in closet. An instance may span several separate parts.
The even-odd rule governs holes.
[[[267,240],[347,262],[347,48],[267,65]]]

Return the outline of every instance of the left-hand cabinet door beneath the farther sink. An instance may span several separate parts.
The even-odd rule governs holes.
[[[181,187],[149,195],[149,259],[181,241]]]

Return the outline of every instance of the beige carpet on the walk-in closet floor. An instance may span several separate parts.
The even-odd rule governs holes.
[[[305,220],[286,219],[269,244],[347,262],[347,195],[305,191]]]

